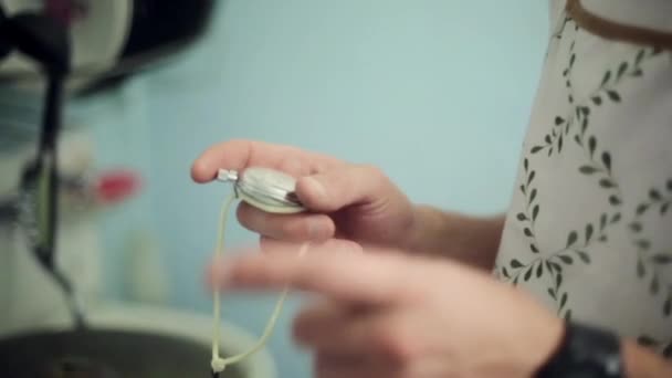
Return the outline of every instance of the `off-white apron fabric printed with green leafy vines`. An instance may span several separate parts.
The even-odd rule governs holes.
[[[672,30],[672,14],[652,12],[668,0],[638,3],[640,12],[628,8],[638,24],[651,15]],[[588,32],[564,4],[552,1],[553,36],[495,275],[558,316],[671,357],[672,52]]]

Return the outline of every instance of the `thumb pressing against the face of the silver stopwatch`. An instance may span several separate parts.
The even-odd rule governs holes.
[[[332,212],[351,204],[374,203],[397,195],[392,182],[372,166],[347,165],[302,177],[296,196],[311,210]],[[401,193],[399,193],[401,195]]]

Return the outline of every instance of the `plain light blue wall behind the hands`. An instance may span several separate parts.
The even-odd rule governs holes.
[[[375,164],[417,202],[505,210],[548,23],[538,0],[217,3],[207,33],[175,62],[67,103],[70,150],[140,182],[70,237],[77,249],[95,234],[99,264],[85,284],[98,298],[211,312],[202,272],[230,188],[196,185],[189,169],[230,138]],[[3,119],[33,122],[30,101],[2,91],[0,102]],[[7,129],[0,169],[9,178],[32,139]],[[235,222],[227,232],[230,245],[258,240]],[[227,296],[223,318],[258,335],[274,300]],[[290,338],[300,304],[290,302],[269,345],[279,377],[309,376],[309,356]]]

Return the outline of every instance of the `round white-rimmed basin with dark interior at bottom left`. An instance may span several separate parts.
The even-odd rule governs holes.
[[[210,377],[212,319],[161,306],[106,303],[90,308],[91,330],[43,325],[0,339],[0,370],[12,377]],[[221,325],[220,350],[246,350],[256,337]],[[224,356],[225,357],[225,356]],[[70,375],[69,375],[70,372]],[[224,370],[222,378],[275,378],[262,349]]]

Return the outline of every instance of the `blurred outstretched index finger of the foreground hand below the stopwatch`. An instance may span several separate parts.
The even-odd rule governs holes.
[[[336,301],[369,305],[417,297],[417,281],[408,280],[411,259],[390,252],[334,253],[318,249],[303,258],[287,251],[245,253],[222,264],[214,269],[212,281],[224,290],[280,290],[288,285]]]

